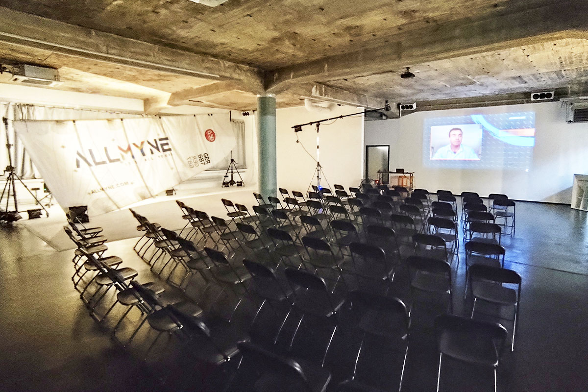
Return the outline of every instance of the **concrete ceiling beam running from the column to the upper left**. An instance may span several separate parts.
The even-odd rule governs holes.
[[[236,80],[248,92],[263,92],[263,72],[250,66],[123,38],[4,7],[0,7],[0,42],[213,81]]]

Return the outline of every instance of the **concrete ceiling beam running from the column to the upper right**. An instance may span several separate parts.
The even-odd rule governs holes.
[[[502,11],[503,12],[503,11]],[[561,38],[588,38],[588,2],[553,2],[506,15],[463,19],[380,39],[377,46],[266,72],[265,87],[280,93],[293,83],[398,71],[405,66]],[[497,13],[499,13],[497,11]]]

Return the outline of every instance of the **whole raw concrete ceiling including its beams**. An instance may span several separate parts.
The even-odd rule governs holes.
[[[0,63],[58,68],[59,88],[248,110],[260,93],[370,108],[583,95],[580,0],[4,0]],[[410,66],[416,77],[401,79]]]

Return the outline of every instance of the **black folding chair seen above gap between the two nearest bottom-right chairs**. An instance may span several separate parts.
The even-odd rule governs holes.
[[[446,309],[453,313],[451,265],[446,260],[416,255],[409,256],[406,264],[410,274],[410,293],[413,297],[410,312],[415,306],[416,294],[426,293],[433,301],[447,296]]]

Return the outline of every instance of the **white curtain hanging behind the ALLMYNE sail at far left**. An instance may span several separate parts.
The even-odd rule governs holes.
[[[2,125],[0,132],[0,172],[9,165],[8,150],[6,146],[6,134],[8,143],[12,145],[12,166],[16,168],[15,173],[21,178],[40,178],[41,174],[26,153],[21,140],[15,137],[12,122],[15,120],[79,120],[79,119],[112,119],[112,118],[135,118],[142,115],[108,112],[105,110],[91,109],[68,109],[55,108],[51,106],[26,105],[23,103],[0,102],[0,115],[7,119],[8,129]],[[8,132],[6,132],[8,130]],[[0,179],[5,175],[0,175]]]

